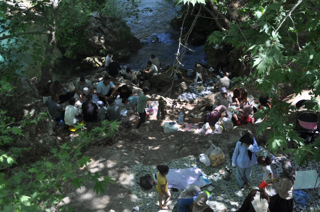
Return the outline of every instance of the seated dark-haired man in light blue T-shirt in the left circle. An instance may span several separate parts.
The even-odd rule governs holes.
[[[105,76],[97,85],[97,95],[99,100],[107,103],[108,98],[114,98],[117,92],[116,86],[110,81],[109,76]]]

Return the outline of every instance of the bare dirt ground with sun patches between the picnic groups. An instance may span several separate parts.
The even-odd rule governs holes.
[[[249,88],[248,91],[255,97],[260,95],[254,89]],[[178,132],[168,134],[163,132],[164,122],[177,121],[180,112],[183,112],[185,122],[188,122],[188,116],[191,112],[199,111],[203,106],[213,104],[214,95],[210,94],[190,102],[165,99],[167,101],[166,119],[157,120],[155,114],[151,115],[147,120],[151,121],[152,129],[150,129],[150,125],[143,125],[136,130],[135,126],[139,117],[130,117],[120,126],[117,142],[111,146],[95,146],[84,153],[84,155],[92,157],[92,162],[88,165],[88,169],[92,173],[100,172],[103,175],[108,175],[115,179],[117,184],[109,184],[105,194],[99,193],[98,195],[93,191],[94,184],[92,182],[88,182],[81,189],[70,188],[64,198],[64,203],[61,202],[59,205],[68,205],[74,211],[130,212],[134,206],[130,187],[131,165],[139,163],[156,165],[188,155],[197,157],[210,147],[210,141],[228,154],[245,130],[251,130],[255,134],[258,125],[245,125],[237,127],[229,133],[206,136],[183,132],[182,125],[180,125]],[[154,95],[154,97],[158,96]],[[309,98],[308,91],[304,91],[298,96],[288,96],[286,101],[292,102],[293,105],[300,99]],[[174,103],[177,103],[175,108],[173,108]],[[295,111],[292,111],[289,116],[289,120],[295,122]],[[149,132],[147,132],[147,128]],[[265,144],[264,135],[256,136],[256,138],[259,145]]]

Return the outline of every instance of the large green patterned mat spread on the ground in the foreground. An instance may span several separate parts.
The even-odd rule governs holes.
[[[212,183],[214,187],[211,192],[212,200],[209,200],[207,203],[212,207],[214,211],[221,211],[223,208],[227,208],[231,211],[236,211],[241,207],[242,202],[244,201],[246,195],[254,189],[243,188],[239,190],[236,185],[236,171],[231,174],[231,179],[226,181],[223,180],[223,174],[220,174],[219,171],[224,169],[224,167],[231,167],[230,158],[226,155],[226,162],[221,166],[212,168],[211,166],[206,167],[194,156],[183,157],[179,159],[174,159],[170,163],[165,163],[169,166],[170,169],[185,169],[189,167],[198,167],[201,169],[204,176]],[[271,166],[272,167],[272,166]],[[146,174],[156,173],[156,166],[144,166],[142,164],[132,165],[130,169],[130,185],[132,192],[132,200],[135,203],[135,206],[140,207],[140,212],[156,212],[156,211],[177,211],[177,201],[182,190],[179,189],[178,192],[171,192],[171,199],[168,203],[169,210],[161,210],[158,203],[158,193],[156,187],[154,186],[150,190],[142,189],[138,182],[140,177],[145,176]],[[215,176],[220,177],[216,182],[213,180]],[[253,166],[252,169],[252,179],[251,185],[257,187],[262,181],[262,175],[260,168],[257,165]],[[201,188],[202,191],[206,191],[208,186]],[[270,195],[276,194],[275,190],[271,187],[267,187],[267,193]]]

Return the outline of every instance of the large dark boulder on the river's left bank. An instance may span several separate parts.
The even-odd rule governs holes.
[[[120,19],[105,17],[98,12],[90,14],[86,24],[86,41],[91,48],[84,55],[99,55],[100,50],[112,51],[119,59],[128,58],[132,51],[142,48],[138,38]]]

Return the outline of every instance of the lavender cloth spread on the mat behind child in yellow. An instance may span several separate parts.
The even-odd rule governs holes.
[[[154,177],[155,175],[153,175]],[[184,190],[189,184],[196,184],[200,187],[206,186],[211,182],[203,175],[201,169],[190,167],[187,169],[170,169],[167,174],[168,187]],[[156,178],[154,178],[156,181]]]

